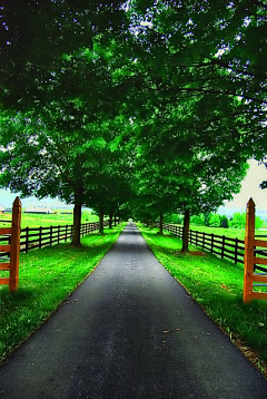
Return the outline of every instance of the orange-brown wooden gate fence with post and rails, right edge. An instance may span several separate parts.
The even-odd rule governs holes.
[[[253,198],[247,204],[245,267],[244,267],[244,302],[253,299],[267,300],[267,292],[257,292],[258,288],[267,289],[267,239],[255,235],[255,203]]]

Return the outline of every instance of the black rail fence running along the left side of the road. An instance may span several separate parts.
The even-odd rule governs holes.
[[[103,225],[107,226],[109,221],[105,221]],[[95,232],[99,228],[99,222],[83,223],[81,224],[81,236]],[[42,249],[43,246],[52,246],[59,244],[62,241],[72,239],[73,225],[58,225],[50,227],[24,227],[21,228],[20,234],[20,252],[28,253],[30,250]],[[0,236],[0,245],[10,244],[10,235]],[[0,253],[1,261],[9,259],[9,252]]]

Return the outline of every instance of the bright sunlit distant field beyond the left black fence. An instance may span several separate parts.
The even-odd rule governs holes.
[[[11,214],[0,214],[0,226],[4,227],[10,225],[10,223],[1,222],[1,221],[11,221]],[[91,215],[88,211],[82,214],[81,223],[88,222],[97,222],[98,216]],[[21,226],[23,227],[39,227],[39,226],[57,226],[57,225],[66,225],[73,223],[73,215],[72,214],[29,214],[22,213],[21,215]]]

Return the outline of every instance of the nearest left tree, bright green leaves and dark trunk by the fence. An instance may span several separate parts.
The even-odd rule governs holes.
[[[121,187],[116,176],[121,167],[117,165],[125,165],[125,177],[127,169],[120,143],[130,124],[119,115],[111,70],[101,47],[97,49],[99,52],[80,50],[63,60],[68,80],[62,74],[57,84],[66,93],[65,98],[47,104],[38,113],[20,113],[11,120],[8,116],[2,118],[0,133],[4,148],[0,153],[0,185],[24,196],[50,195],[75,203],[76,244],[81,205],[95,205],[96,197],[105,197],[107,203],[109,188],[105,184],[113,186],[116,182]],[[95,76],[90,86],[88,74]]]

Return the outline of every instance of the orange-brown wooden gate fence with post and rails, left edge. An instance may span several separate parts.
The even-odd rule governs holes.
[[[0,278],[0,284],[8,284],[10,291],[16,291],[19,283],[21,223],[21,202],[19,197],[17,197],[13,202],[11,223],[11,227],[0,228],[0,255],[2,255],[0,261],[0,271],[9,272],[8,278]]]

